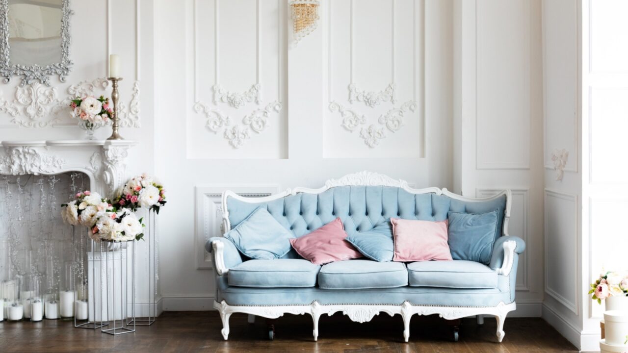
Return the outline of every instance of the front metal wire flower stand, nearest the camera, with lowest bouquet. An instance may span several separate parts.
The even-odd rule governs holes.
[[[116,247],[117,247],[116,244],[119,246],[119,250],[116,250]],[[123,284],[128,285],[129,283],[128,281],[129,271],[127,271],[127,267],[128,267],[127,260],[129,258],[128,256],[129,246],[133,246],[133,252],[131,253],[133,257],[131,259],[131,264],[133,264],[135,263],[135,240],[127,241],[127,242],[104,242],[104,241],[100,242],[100,272],[102,274],[102,269],[104,267],[107,273],[105,285],[104,285],[104,288],[106,288],[106,291],[107,291],[107,305],[106,305],[107,320],[103,321],[102,301],[100,301],[100,304],[101,304],[100,324],[104,326],[105,322],[109,323],[109,329],[104,329],[104,327],[100,327],[100,331],[106,334],[110,334],[110,335],[122,335],[122,334],[129,334],[131,332],[135,332],[135,286],[133,285],[131,286],[131,321],[130,322],[132,322],[133,325],[129,325],[127,323],[129,322],[129,315],[127,315],[127,310],[128,310],[127,307],[129,305],[128,289],[127,289],[127,286],[123,285]],[[119,252],[118,259],[116,259],[116,252]],[[123,252],[125,256],[122,256]],[[104,257],[106,257],[105,261],[103,261],[103,255]],[[116,276],[116,260],[118,262],[119,271],[120,271],[119,276]],[[103,266],[104,262],[105,262],[105,266]],[[109,276],[109,268],[110,268],[109,264],[110,263],[112,265],[111,266],[111,281],[110,281],[110,276]],[[119,277],[119,278],[116,278],[116,277]],[[121,302],[119,320],[117,319],[117,312],[116,312],[116,294],[117,294],[116,283],[119,285],[120,302]],[[135,283],[135,266],[131,266],[131,283]],[[100,281],[100,287],[103,288],[102,280]],[[113,308],[113,320],[111,320],[111,317],[109,317],[109,313],[110,313],[109,288],[111,288],[111,296],[112,296],[111,305]]]

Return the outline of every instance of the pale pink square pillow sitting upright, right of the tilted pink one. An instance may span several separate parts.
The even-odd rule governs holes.
[[[391,224],[393,261],[452,260],[447,244],[447,220],[431,222],[391,218]]]

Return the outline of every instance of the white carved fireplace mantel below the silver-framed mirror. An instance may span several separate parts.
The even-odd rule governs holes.
[[[92,190],[111,195],[126,182],[129,140],[2,141],[0,175],[53,175],[80,171]],[[111,195],[112,196],[112,195]]]

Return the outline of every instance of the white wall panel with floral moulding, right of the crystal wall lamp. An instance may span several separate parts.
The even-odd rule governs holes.
[[[325,158],[424,156],[423,6],[330,1]]]

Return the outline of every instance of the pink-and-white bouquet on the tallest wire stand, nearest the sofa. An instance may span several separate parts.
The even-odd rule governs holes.
[[[166,204],[165,191],[159,182],[144,173],[131,178],[118,192],[113,204],[131,210],[144,208],[159,214],[160,208]]]

